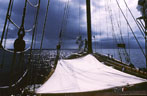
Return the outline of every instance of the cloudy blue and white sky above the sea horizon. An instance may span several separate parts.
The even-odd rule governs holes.
[[[18,26],[21,25],[24,1],[25,0],[14,0],[13,4],[11,19]],[[38,0],[29,1],[34,5],[38,2]],[[48,0],[41,0],[34,48],[40,48],[47,2]],[[144,47],[144,38],[126,8],[124,0],[118,0],[118,2],[140,44]],[[126,2],[134,17],[140,17],[141,13],[137,9],[138,0],[126,0]],[[5,23],[8,4],[9,0],[0,0],[0,37]],[[67,9],[65,7],[66,5],[68,6]],[[36,9],[37,8],[27,4],[24,23],[26,30],[33,28]],[[65,15],[63,19],[64,12],[67,12],[67,15]],[[61,47],[63,49],[78,48],[78,45],[75,43],[76,38],[80,35],[83,40],[87,38],[86,22],[86,0],[50,0],[43,48],[56,48],[61,29],[63,29]],[[136,40],[119,10],[116,0],[91,0],[91,22],[93,48],[114,48],[116,43],[122,42],[125,42],[127,47],[138,48]],[[18,37],[17,32],[18,28],[10,23],[6,39],[6,48],[13,48],[14,41]],[[32,31],[25,34],[24,40],[26,42],[26,48],[29,47],[32,40]]]

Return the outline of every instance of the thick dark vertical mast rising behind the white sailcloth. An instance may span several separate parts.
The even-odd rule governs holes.
[[[86,10],[87,10],[87,38],[88,38],[88,53],[92,53],[92,38],[91,38],[91,10],[90,10],[90,0],[86,0]]]

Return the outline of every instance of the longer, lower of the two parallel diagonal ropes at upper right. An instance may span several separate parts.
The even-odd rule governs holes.
[[[142,47],[141,47],[141,45],[140,45],[139,41],[137,40],[137,37],[136,37],[136,35],[135,35],[135,33],[134,33],[134,31],[133,31],[133,29],[132,29],[131,25],[129,24],[129,21],[127,20],[127,18],[126,18],[126,16],[125,16],[125,14],[123,13],[123,11],[122,11],[122,9],[121,9],[121,7],[120,7],[119,3],[118,3],[118,0],[116,0],[116,3],[117,3],[117,5],[118,5],[118,7],[119,7],[119,9],[120,9],[120,11],[121,11],[121,13],[122,13],[122,15],[124,16],[124,18],[125,18],[125,20],[126,20],[126,22],[127,22],[128,26],[129,26],[129,28],[130,28],[130,30],[131,30],[131,32],[132,32],[132,34],[133,34],[133,36],[134,36],[135,40],[137,41],[137,44],[139,45],[139,48],[141,49],[141,51],[142,51],[143,55],[146,57],[146,55],[145,55],[145,53],[144,53],[144,51],[143,51],[143,49],[142,49]]]

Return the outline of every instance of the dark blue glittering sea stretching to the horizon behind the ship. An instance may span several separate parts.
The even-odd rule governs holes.
[[[33,50],[32,51],[32,61],[35,61],[34,63],[40,62],[41,63],[49,63],[49,61],[52,58],[56,57],[56,50],[53,49],[44,49],[41,51],[40,50]],[[66,58],[69,55],[73,53],[77,53],[78,50],[76,49],[64,49],[60,51],[60,58]],[[127,53],[130,58],[130,62],[127,62],[125,60],[126,55],[124,51],[118,52],[118,49],[94,49],[93,52],[95,53],[100,53],[106,56],[111,56],[117,60],[122,60],[124,63],[132,63],[135,67],[137,68],[145,68],[146,67],[146,61],[145,61],[145,56],[142,54],[140,49],[127,49]],[[16,56],[16,59],[20,59],[20,55],[18,54]],[[120,58],[121,57],[121,58]],[[26,55],[23,57],[25,60],[29,59],[29,52],[26,53]],[[5,65],[5,63],[9,64],[10,61],[13,61],[13,53],[9,53],[7,51],[0,50],[0,67],[2,65]],[[5,61],[5,62],[4,62]],[[50,66],[50,65],[49,65]],[[1,69],[1,68],[0,68]]]

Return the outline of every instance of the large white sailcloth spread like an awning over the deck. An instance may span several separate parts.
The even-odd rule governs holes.
[[[106,66],[89,54],[77,59],[59,60],[53,75],[36,93],[99,91],[141,82],[147,80]]]

